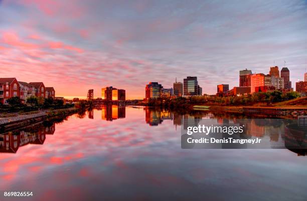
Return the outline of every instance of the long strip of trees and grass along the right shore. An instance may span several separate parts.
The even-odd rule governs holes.
[[[243,113],[243,108],[259,107],[282,110],[295,108],[307,109],[307,97],[300,97],[296,92],[282,94],[280,91],[258,92],[242,96],[192,96],[175,99],[149,99],[139,105],[178,111],[220,111]],[[294,112],[295,113],[295,112]],[[307,114],[306,112],[301,114]],[[273,115],[274,116],[274,115]]]

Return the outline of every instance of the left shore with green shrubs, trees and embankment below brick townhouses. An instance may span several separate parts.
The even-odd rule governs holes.
[[[9,105],[0,105],[0,131],[8,131],[39,122],[61,120],[75,113],[84,113],[92,101],[64,104],[63,100],[29,97],[27,104],[19,97],[11,98]]]

